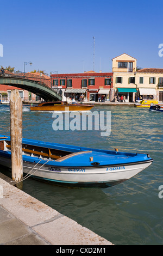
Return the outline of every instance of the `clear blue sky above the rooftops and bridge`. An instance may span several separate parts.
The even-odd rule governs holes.
[[[1,3],[0,65],[15,70],[111,72],[112,58],[127,53],[141,68],[163,68],[159,57],[162,1],[8,0]]]

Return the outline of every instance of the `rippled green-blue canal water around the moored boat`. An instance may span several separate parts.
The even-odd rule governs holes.
[[[152,165],[109,188],[70,188],[29,178],[23,182],[23,191],[115,245],[163,245],[162,113],[122,105],[95,106],[93,111],[111,113],[109,136],[101,136],[101,130],[54,131],[51,112],[30,112],[29,106],[23,106],[23,137],[148,153],[154,159]],[[10,135],[9,115],[9,106],[1,105],[2,135]],[[2,167],[1,172],[8,173]]]

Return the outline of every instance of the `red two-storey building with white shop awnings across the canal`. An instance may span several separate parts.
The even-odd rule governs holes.
[[[88,71],[79,74],[52,74],[52,88],[62,90],[66,97],[80,101],[111,101],[114,97],[112,73]]]

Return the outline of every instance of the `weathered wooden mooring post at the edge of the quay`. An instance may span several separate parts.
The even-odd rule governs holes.
[[[11,90],[10,96],[10,136],[12,180],[18,188],[22,188],[22,100],[18,90]]]

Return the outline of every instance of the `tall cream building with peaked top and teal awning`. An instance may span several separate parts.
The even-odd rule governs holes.
[[[137,86],[135,84],[136,59],[126,53],[112,59],[113,88],[115,101],[117,96],[126,97],[126,102],[135,101]],[[114,100],[114,99],[112,99]]]

